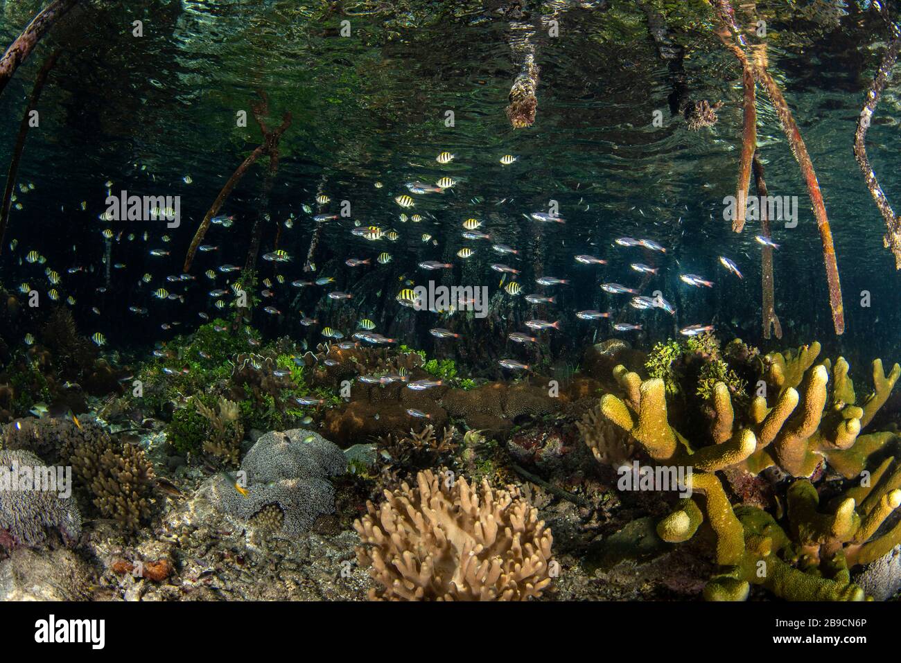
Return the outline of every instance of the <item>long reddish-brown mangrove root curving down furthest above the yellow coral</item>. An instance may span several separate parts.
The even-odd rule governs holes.
[[[715,13],[719,19],[721,26],[724,26],[732,36],[730,41],[737,41],[740,32],[738,26],[734,23],[734,12],[729,0],[714,0]],[[738,48],[738,46],[736,46]],[[782,125],[782,131],[785,132],[788,144],[791,146],[792,154],[801,168],[804,176],[805,185],[807,186],[807,194],[810,195],[810,202],[814,207],[814,216],[816,225],[820,231],[820,240],[823,245],[823,262],[826,269],[826,281],[829,285],[829,305],[833,313],[833,327],[836,334],[844,333],[844,306],[842,304],[842,284],[839,281],[838,261],[835,259],[835,246],[833,244],[833,232],[829,226],[829,218],[826,216],[826,208],[823,204],[823,194],[820,191],[820,184],[816,180],[816,172],[814,164],[807,153],[804,139],[801,132],[797,128],[795,118],[788,108],[785,97],[778,84],[769,75],[767,70],[767,50],[766,44],[758,44],[752,47],[752,58],[750,59],[751,67],[754,71],[754,77],[758,83],[767,91],[769,101],[776,109],[779,123]]]

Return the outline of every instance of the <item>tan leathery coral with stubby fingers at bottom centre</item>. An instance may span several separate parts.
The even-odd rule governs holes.
[[[551,530],[514,486],[481,490],[431,470],[354,522],[372,599],[524,601],[551,584]]]

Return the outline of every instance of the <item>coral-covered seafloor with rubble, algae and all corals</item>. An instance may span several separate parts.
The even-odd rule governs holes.
[[[96,349],[61,308],[36,332],[5,348],[0,455],[72,468],[74,490],[0,498],[3,599],[834,600],[901,585],[897,365],[707,334],[650,352],[604,341],[578,366],[497,381],[225,320],[149,359]],[[623,489],[622,466],[691,468],[692,495]]]

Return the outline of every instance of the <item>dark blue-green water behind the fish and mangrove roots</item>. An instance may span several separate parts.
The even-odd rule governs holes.
[[[42,4],[0,2],[0,41],[11,42]],[[878,356],[889,363],[901,359],[901,276],[882,247],[883,223],[851,152],[887,24],[864,4],[758,6],[769,17],[770,71],[783,86],[823,190],[847,328],[842,338],[834,336],[809,199],[776,114],[759,88],[758,145],[769,193],[796,195],[799,206],[795,229],[778,224],[773,229],[781,244],[774,260],[777,313],[785,337],[767,342],[760,338],[760,246],[753,241],[759,225],[749,222],[736,235],[723,220],[723,199],[734,195],[738,167],[741,72],[709,25],[692,18],[689,8],[700,5],[685,4],[687,18],[676,26],[676,38],[690,55],[685,60],[687,95],[723,100],[724,107],[713,128],[689,132],[681,118],[670,116],[668,65],[658,56],[638,4],[560,4],[566,9],[558,14],[560,37],[537,30],[532,38],[541,67],[537,121],[531,129],[514,131],[504,113],[516,74],[508,43],[514,31],[509,16],[496,11],[506,4],[400,3],[393,12],[357,16],[347,14],[365,5],[335,5],[344,7],[347,14],[341,14],[318,3],[305,9],[296,2],[271,0],[87,3],[41,43],[0,97],[0,164],[5,170],[43,58],[55,44],[67,47],[41,97],[41,127],[29,134],[18,181],[33,182],[35,189],[27,195],[17,192],[24,209],[14,210],[6,243],[16,239],[18,248],[11,254],[5,247],[0,278],[10,289],[27,280],[46,292],[50,286],[42,278],[44,266],[19,264],[28,250],[38,250],[62,276],[57,287],[63,298],[77,298],[74,312],[83,332],[105,333],[114,348],[149,346],[174,333],[160,330],[161,322],[183,321],[180,330],[189,331],[201,322],[198,311],[214,313],[203,272],[226,262],[244,264],[259,213],[269,213],[272,220],[261,254],[273,248],[275,224],[294,213],[296,224],[292,230],[282,227],[279,243],[294,256],[278,267],[286,285],[277,288],[276,301],[266,302],[286,315],[278,319],[254,313],[254,324],[270,337],[287,333],[318,341],[319,328],[309,330],[296,322],[303,309],[323,324],[369,317],[378,322],[379,332],[433,350],[427,330],[454,328],[458,322],[438,322],[430,313],[396,304],[403,277],[416,283],[433,277],[449,285],[487,285],[494,294],[499,275],[488,265],[507,262],[522,268],[523,294],[542,291],[533,284],[536,276],[572,279],[571,285],[553,289],[558,304],[539,317],[563,321],[562,331],[553,334],[553,355],[573,363],[578,362],[577,350],[591,341],[615,335],[650,347],[681,326],[709,322],[722,338],[739,335],[765,350],[820,340],[829,354],[842,352],[859,369]],[[536,7],[526,5],[527,10]],[[538,23],[539,14],[533,11],[529,20]],[[344,18],[351,22],[349,38],[339,36]],[[144,21],[141,39],[132,37],[135,19]],[[262,162],[223,207],[223,213],[236,216],[232,228],[214,226],[207,234],[206,241],[220,250],[198,254],[192,269],[197,283],[188,288],[186,304],[153,299],[150,293],[159,286],[181,291],[165,277],[180,273],[196,225],[234,168],[259,144],[250,114],[258,89],[268,93],[270,125],[277,125],[285,111],[293,114],[268,206],[261,208]],[[452,128],[443,123],[449,109],[456,114]],[[247,128],[235,126],[239,110],[248,112]],[[651,118],[657,110],[663,111],[665,122],[655,129]],[[897,86],[889,83],[869,130],[868,150],[890,201],[901,196],[899,118]],[[434,160],[443,150],[457,155],[449,166]],[[504,154],[519,159],[502,168],[498,159]],[[186,175],[193,184],[182,181]],[[436,220],[399,223],[402,210],[393,198],[407,193],[404,183],[434,182],[443,175],[460,178],[460,185],[443,195],[414,196],[416,207],[406,211],[430,212]],[[98,220],[105,209],[107,180],[114,183],[114,192],[180,195],[181,227]],[[377,189],[376,181],[384,187]],[[350,200],[353,219],[394,228],[401,239],[368,242],[350,236],[350,221],[329,222],[315,258],[316,276],[333,276],[336,282],[308,288],[296,300],[297,291],[287,283],[305,277],[301,268],[314,228],[301,204],[320,211],[314,204],[319,190],[332,198],[323,211],[337,213],[338,202]],[[482,202],[473,204],[474,196]],[[504,204],[497,204],[503,199]],[[523,218],[523,213],[546,210],[550,199],[559,201],[565,225]],[[83,200],[84,212],[79,208]],[[518,259],[496,255],[489,242],[462,240],[460,223],[470,216],[485,221],[481,230],[491,232],[495,241],[519,249]],[[101,232],[106,227],[134,232],[139,239],[114,242],[112,261],[127,268],[113,270],[109,290],[99,295],[95,288],[104,285]],[[140,240],[145,230],[151,235],[146,243]],[[423,244],[423,232],[432,234],[439,246]],[[163,234],[172,241],[162,243]],[[614,238],[623,235],[660,241],[668,253],[615,247]],[[479,251],[463,262],[455,256],[463,246]],[[166,248],[171,255],[151,258],[150,248]],[[383,250],[394,257],[387,266],[375,264]],[[573,260],[578,253],[609,264],[578,265]],[[721,255],[738,263],[743,280],[725,272],[717,261]],[[347,268],[343,261],[350,257],[370,258],[373,266]],[[457,266],[452,276],[424,273],[415,268],[424,259]],[[678,308],[674,318],[660,311],[634,311],[625,306],[628,297],[606,295],[597,287],[605,281],[637,286],[642,277],[628,267],[632,261],[660,267],[660,275],[642,294],[659,289]],[[90,264],[96,266],[93,275],[65,273],[68,267]],[[273,276],[273,263],[259,264],[260,277]],[[154,280],[139,287],[145,272]],[[711,278],[715,286],[686,286],[678,280],[680,272]],[[216,287],[222,284],[220,277]],[[356,304],[331,303],[324,295],[332,289],[355,293]],[[863,290],[871,295],[869,308],[860,306]],[[477,322],[467,327],[470,335],[499,334],[503,339],[505,331],[522,330],[519,322],[532,317],[521,296],[498,296],[495,303],[512,326],[498,331],[479,328]],[[150,315],[128,313],[129,305],[146,306]],[[350,305],[357,308],[351,311]],[[91,312],[93,306],[100,316]],[[644,322],[645,332],[614,334],[606,321],[574,317],[589,308],[614,310],[622,321]],[[352,331],[336,322],[333,326]]]

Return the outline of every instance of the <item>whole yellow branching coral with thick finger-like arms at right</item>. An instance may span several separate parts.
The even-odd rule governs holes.
[[[849,568],[878,559],[901,542],[901,526],[876,536],[901,505],[901,468],[889,472],[889,458],[871,477],[864,473],[874,454],[896,436],[860,435],[885,404],[901,368],[896,364],[886,376],[882,362],[874,361],[873,392],[856,405],[848,363],[840,358],[834,366],[828,360],[815,365],[819,352],[814,343],[762,358],[769,388],[759,391],[747,412],[736,412],[728,387],[715,383],[708,440],[689,441],[669,424],[660,378],[642,381],[619,366],[614,377],[624,398],[601,398],[600,413],[628,431],[654,462],[693,469],[687,483],[694,495],[681,500],[657,532],[662,540],[680,542],[694,536],[705,520],[709,523],[714,559],[724,568],[705,589],[709,599],[741,600],[750,583],[792,600],[860,599],[862,590],[851,585]],[[831,392],[826,388],[830,374]],[[764,394],[771,395],[771,406]],[[817,488],[808,477],[824,465],[847,479],[865,480],[820,512]],[[758,474],[770,466],[797,477],[787,494],[787,530],[760,508],[733,508],[715,474],[734,469]]]

